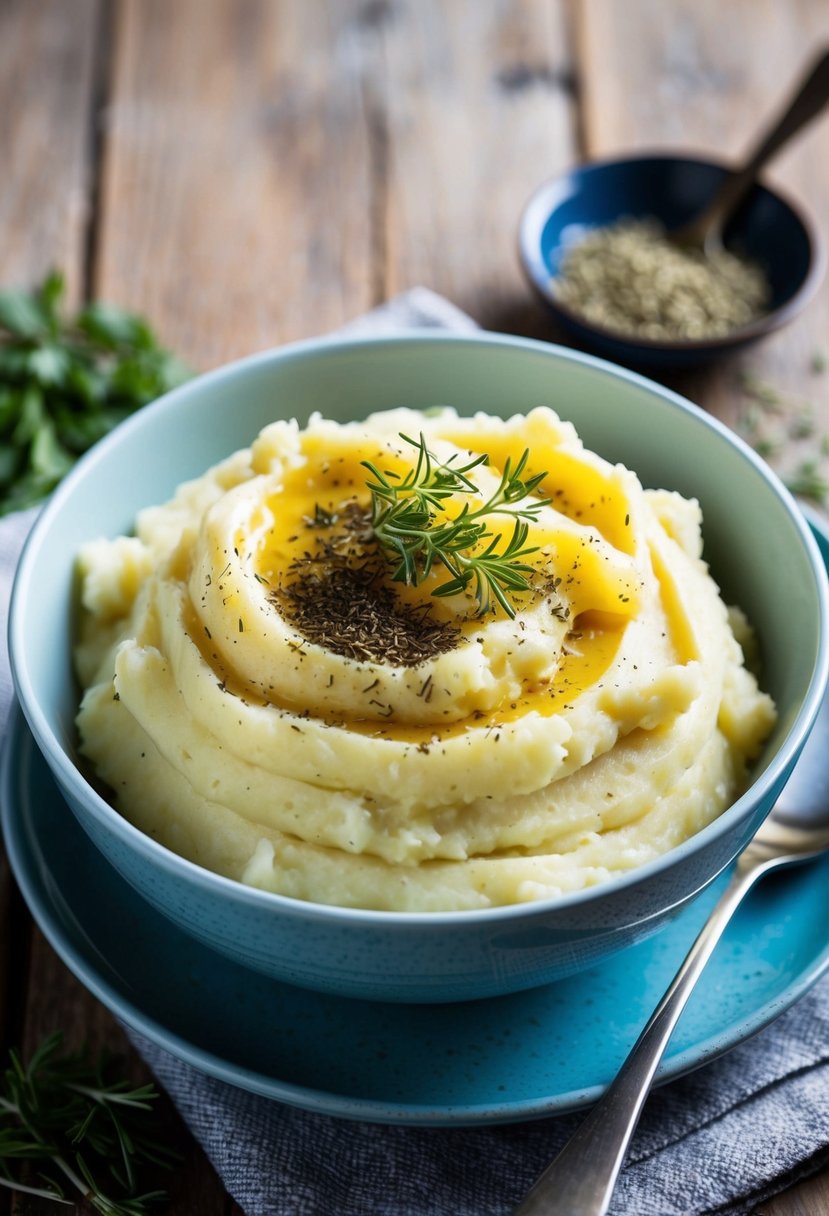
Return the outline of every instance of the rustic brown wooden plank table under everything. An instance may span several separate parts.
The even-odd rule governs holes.
[[[558,339],[515,257],[532,188],[639,147],[738,156],[827,39],[816,0],[0,0],[0,282],[61,266],[73,302],[147,314],[197,368],[418,283]],[[824,232],[828,152],[824,122],[769,174]],[[765,438],[791,471],[825,450],[827,349],[823,289],[761,348],[673,383],[745,432],[771,387]],[[60,1026],[140,1076],[2,858],[0,924],[4,1057]],[[179,1138],[169,1211],[238,1212]],[[763,1207],[827,1211],[829,1171]]]

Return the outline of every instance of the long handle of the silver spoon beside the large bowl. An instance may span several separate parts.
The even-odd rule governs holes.
[[[768,862],[740,865],[665,996],[603,1097],[538,1177],[513,1216],[603,1216],[654,1074],[697,980]]]

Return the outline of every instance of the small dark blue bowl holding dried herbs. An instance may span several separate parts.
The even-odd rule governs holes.
[[[521,215],[519,252],[532,286],[562,330],[581,345],[619,362],[690,367],[728,354],[790,321],[811,299],[824,269],[824,250],[800,207],[756,185],[732,216],[726,244],[757,261],[771,287],[771,305],[756,321],[720,338],[655,340],[604,330],[556,298],[551,283],[568,249],[591,229],[615,220],[659,220],[670,232],[712,197],[728,165],[672,154],[597,161],[546,182]]]

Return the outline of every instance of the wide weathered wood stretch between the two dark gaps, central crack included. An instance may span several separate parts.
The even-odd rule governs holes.
[[[118,15],[96,288],[197,366],[418,282],[496,327],[532,311],[518,215],[575,157],[562,4]]]

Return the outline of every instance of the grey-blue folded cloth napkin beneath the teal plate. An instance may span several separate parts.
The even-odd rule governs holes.
[[[343,332],[412,327],[475,325],[417,288]],[[0,520],[0,618],[33,518]],[[9,698],[4,662],[0,721]],[[129,1034],[248,1216],[506,1216],[581,1119],[452,1130],[350,1122],[204,1076]],[[827,1162],[829,978],[754,1038],[650,1096],[611,1212],[743,1216]]]

